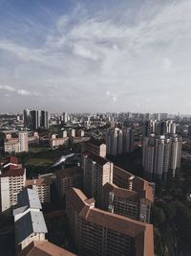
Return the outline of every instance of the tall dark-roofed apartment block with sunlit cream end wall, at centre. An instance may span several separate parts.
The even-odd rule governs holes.
[[[84,192],[88,197],[101,202],[103,185],[113,182],[114,164],[107,159],[87,152],[82,155]]]

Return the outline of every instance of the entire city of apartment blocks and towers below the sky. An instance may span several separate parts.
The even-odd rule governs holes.
[[[26,108],[0,135],[2,255],[189,255],[190,117]]]

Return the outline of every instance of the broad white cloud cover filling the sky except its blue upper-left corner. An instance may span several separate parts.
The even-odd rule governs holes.
[[[15,84],[18,89],[10,89],[14,94],[44,96],[37,103],[44,107],[53,95],[56,109],[63,107],[63,98],[73,95],[76,108],[72,100],[64,107],[74,111],[136,110],[136,103],[142,111],[187,111],[186,105],[172,102],[191,92],[190,1],[129,5],[124,1],[114,10],[98,12],[77,5],[74,12],[57,17],[45,33],[46,41],[33,47],[25,38],[18,43],[0,37],[0,61],[5,62],[1,81]],[[0,89],[9,91],[5,85]],[[23,97],[23,105],[31,98]],[[104,99],[109,100],[107,105]]]

